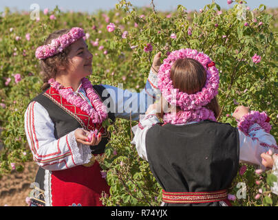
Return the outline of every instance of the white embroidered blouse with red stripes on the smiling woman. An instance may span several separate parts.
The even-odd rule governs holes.
[[[140,111],[145,112],[158,94],[156,84],[156,75],[150,72],[145,89],[140,93],[109,85],[103,87],[111,94],[116,118],[131,117],[132,120],[138,120]],[[89,102],[81,86],[74,91],[74,94]],[[76,142],[74,131],[56,140],[54,123],[39,102],[30,102],[25,111],[25,134],[34,161],[46,170],[63,170],[87,164],[92,157],[89,146]]]

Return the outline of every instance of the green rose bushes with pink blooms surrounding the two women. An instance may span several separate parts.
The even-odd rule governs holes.
[[[32,160],[23,115],[30,100],[41,92],[34,52],[48,34],[65,27],[85,30],[94,55],[89,77],[94,84],[123,83],[125,88],[139,91],[144,88],[157,52],[166,58],[173,50],[189,47],[208,54],[220,70],[218,120],[236,126],[231,113],[237,104],[248,105],[252,110],[266,111],[272,125],[270,133],[277,138],[277,9],[266,10],[260,5],[250,10],[244,7],[245,1],[231,4],[229,10],[211,3],[198,12],[189,12],[186,5],[179,5],[173,12],[158,12],[155,5],[134,8],[128,1],[119,1],[115,10],[94,14],[45,9],[36,20],[31,20],[28,12],[10,13],[6,8],[0,17],[0,139],[4,146],[0,175],[8,175],[12,169],[21,171],[24,162]],[[131,126],[135,124],[122,119],[105,124],[111,140],[105,155],[98,158],[102,175],[111,186],[111,195],[102,198],[105,205],[159,206],[162,200],[161,188],[148,163],[130,144]],[[229,188],[233,204],[277,205],[277,195],[270,192],[276,180],[271,172],[257,174],[255,166],[241,166]]]

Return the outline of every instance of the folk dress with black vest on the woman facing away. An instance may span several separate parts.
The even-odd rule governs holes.
[[[226,190],[237,175],[239,162],[264,168],[261,153],[269,149],[278,151],[275,138],[259,124],[250,126],[245,135],[230,124],[210,120],[161,124],[153,111],[141,115],[139,124],[132,130],[131,143],[136,144],[138,155],[149,162],[151,172],[162,187],[164,206],[229,206],[227,199],[182,203],[179,192]],[[277,168],[273,169],[277,175]],[[275,186],[273,191],[277,192]],[[173,193],[167,198],[168,192]]]

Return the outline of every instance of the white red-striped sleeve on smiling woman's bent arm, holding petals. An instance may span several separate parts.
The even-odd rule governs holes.
[[[74,131],[54,137],[54,124],[39,102],[31,102],[25,111],[25,133],[34,161],[47,170],[86,164],[92,157],[89,146],[76,142]]]

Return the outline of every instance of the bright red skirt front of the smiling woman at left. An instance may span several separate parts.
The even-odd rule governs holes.
[[[52,171],[50,182],[52,206],[103,206],[102,192],[109,195],[97,161],[90,167]]]

